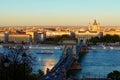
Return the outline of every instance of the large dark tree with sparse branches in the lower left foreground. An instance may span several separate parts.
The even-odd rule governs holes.
[[[33,80],[32,66],[34,65],[34,58],[32,55],[28,54],[28,48],[24,45],[14,45],[12,47],[6,47],[7,58],[9,59],[10,65],[7,69],[7,75],[9,80]],[[23,54],[25,58],[23,58]],[[4,57],[5,58],[5,57]],[[0,64],[0,80],[5,80],[5,68],[3,67],[3,62]],[[41,71],[41,75],[43,72]],[[37,75],[37,74],[36,74]],[[40,77],[39,76],[39,77]],[[38,76],[36,76],[38,77]]]

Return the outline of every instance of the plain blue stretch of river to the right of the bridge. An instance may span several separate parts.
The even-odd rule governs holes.
[[[113,70],[120,71],[120,50],[89,50],[79,63],[82,69],[76,73],[76,77],[104,78]]]

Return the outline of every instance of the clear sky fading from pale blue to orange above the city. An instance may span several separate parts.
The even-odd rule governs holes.
[[[0,0],[0,26],[120,26],[120,0]]]

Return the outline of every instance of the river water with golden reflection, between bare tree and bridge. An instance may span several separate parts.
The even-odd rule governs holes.
[[[30,50],[30,53],[36,58],[36,65],[33,66],[33,72],[36,73],[38,69],[41,69],[46,74],[47,68],[52,69],[59,61],[62,50],[51,50],[53,54],[37,54],[40,51],[41,50]]]

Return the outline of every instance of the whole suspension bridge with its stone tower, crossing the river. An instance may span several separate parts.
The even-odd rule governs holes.
[[[76,41],[64,41],[63,44],[65,48],[58,63],[51,70],[47,69],[47,74],[38,80],[66,80],[69,69],[81,69],[77,60],[83,43],[76,45]]]

